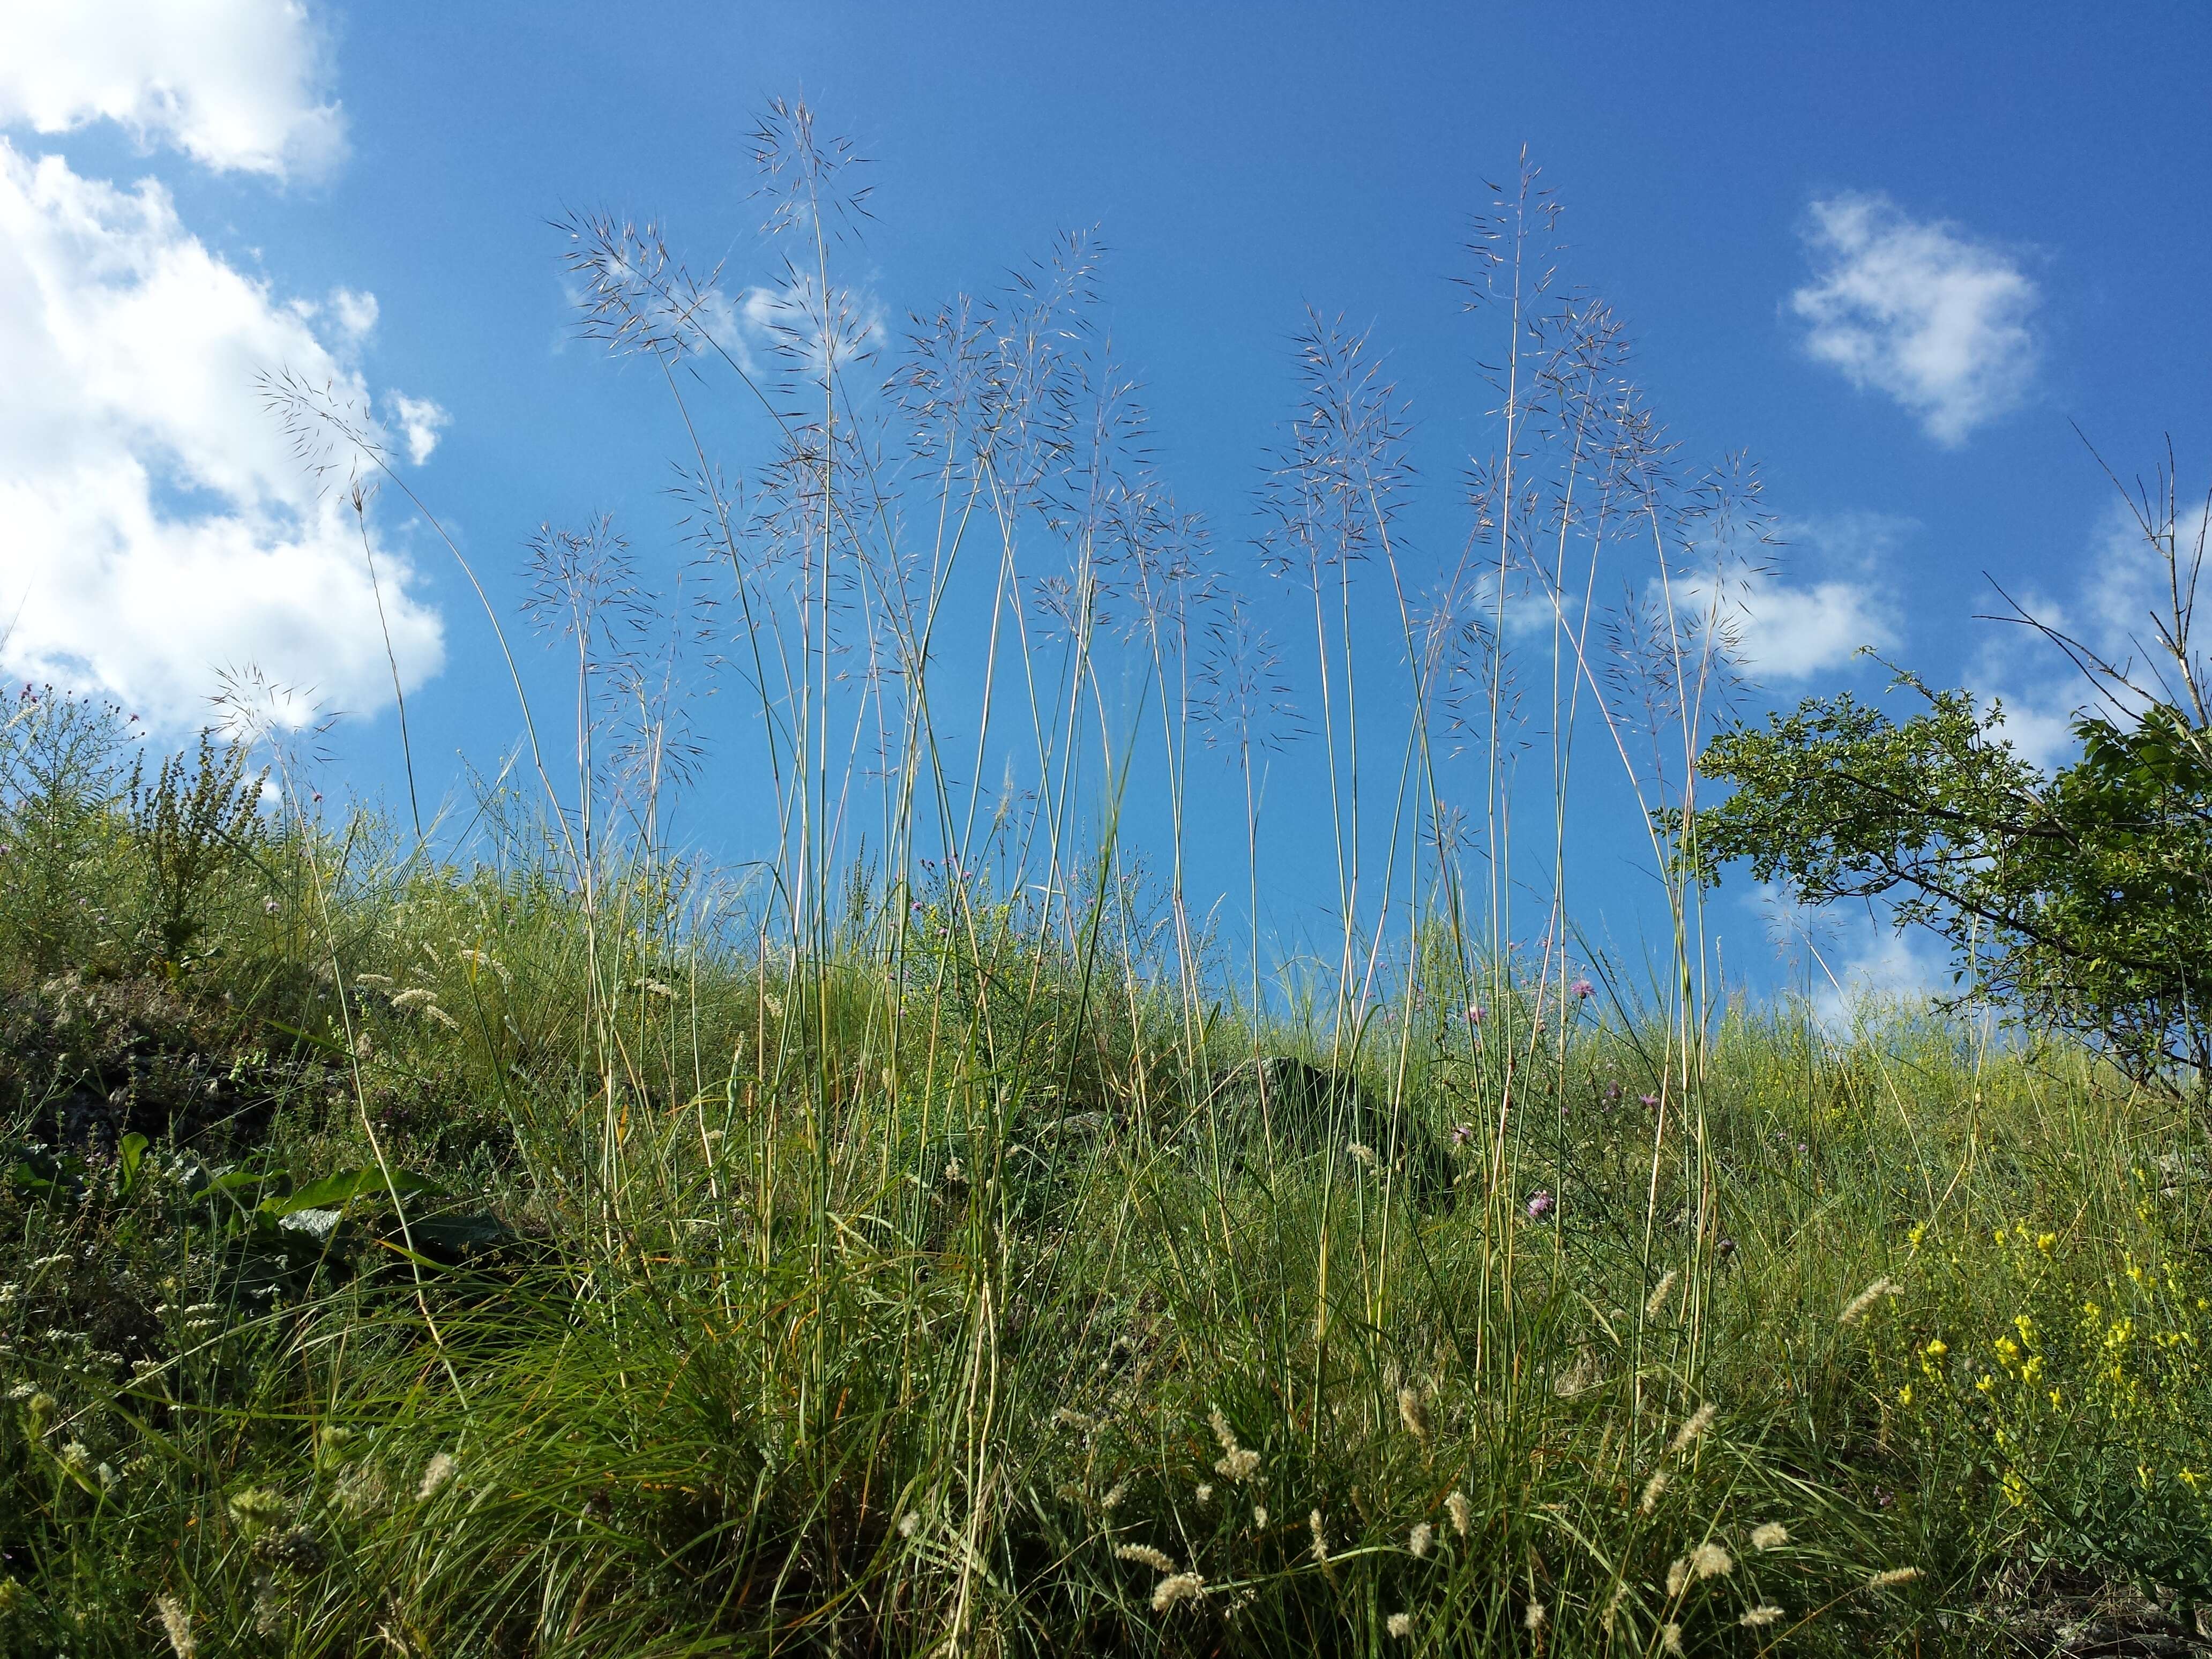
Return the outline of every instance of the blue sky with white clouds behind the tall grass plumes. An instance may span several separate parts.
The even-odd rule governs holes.
[[[841,259],[887,325],[1097,226],[1159,471],[1256,604],[1281,602],[1248,542],[1307,305],[1369,330],[1405,394],[1405,557],[1458,555],[1495,398],[1453,281],[1524,144],[1566,204],[1566,270],[1624,319],[1686,456],[1763,469],[1790,544],[1745,597],[1767,699],[1878,688],[1847,655],[1878,644],[2002,692],[2051,752],[2073,686],[1973,617],[1997,577],[2077,626],[2132,626],[2139,568],[2070,422],[2124,473],[2170,434],[2185,484],[2208,482],[2197,7],[49,11],[0,20],[0,666],[181,730],[215,666],[254,661],[352,710],[332,772],[369,794],[398,787],[398,754],[358,538],[254,374],[365,398],[507,613],[542,520],[613,513],[672,568],[681,429],[648,365],[575,338],[546,221],[655,219],[697,268],[728,261],[730,292],[770,283],[748,133],[776,95],[874,159],[874,219]],[[757,422],[714,398],[721,460],[761,460]],[[438,796],[518,721],[473,597],[394,509],[387,491],[374,533]],[[1387,708],[1396,624],[1371,606],[1356,635]],[[953,684],[980,637],[942,637]],[[529,670],[551,692],[551,661]],[[1402,730],[1402,708],[1378,719]],[[719,761],[681,832],[745,856],[754,739],[734,697],[699,726]],[[1241,796],[1194,768],[1192,891],[1225,896],[1237,931]],[[1321,776],[1314,743],[1270,776],[1272,940],[1332,927]],[[1579,790],[1573,909],[1632,947],[1655,909],[1626,796]],[[1157,836],[1159,792],[1139,776],[1133,796]],[[1734,891],[1719,927],[1759,978],[1763,925]],[[1927,964],[1865,929],[1836,956],[1874,978]]]

